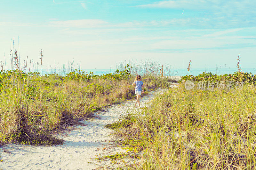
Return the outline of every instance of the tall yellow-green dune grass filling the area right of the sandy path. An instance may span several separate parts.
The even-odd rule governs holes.
[[[116,134],[123,146],[141,151],[136,169],[255,169],[255,99],[250,85],[186,90],[180,84],[139,114],[128,113]]]

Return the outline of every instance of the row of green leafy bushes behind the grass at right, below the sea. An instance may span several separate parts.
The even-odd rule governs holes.
[[[212,74],[211,72],[203,72],[197,76],[193,75],[185,75],[182,76],[180,79],[180,83],[187,81],[187,80],[192,80],[192,81],[197,81],[197,82],[202,82],[202,81],[210,81],[210,82],[218,82],[218,81],[243,81],[244,84],[249,84],[252,86],[256,85],[256,75],[252,73],[246,73],[246,72],[234,72],[233,74]]]

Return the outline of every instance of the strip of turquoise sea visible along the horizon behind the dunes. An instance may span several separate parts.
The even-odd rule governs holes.
[[[83,71],[87,71],[90,73],[90,71],[92,71],[95,74],[97,75],[102,75],[102,74],[108,74],[108,73],[113,73],[114,72],[114,69],[82,69]],[[38,71],[38,70],[37,70]],[[234,73],[235,71],[238,71],[237,68],[221,68],[221,69],[205,69],[205,68],[194,68],[194,69],[191,69],[190,70],[190,73],[188,73],[188,70],[187,69],[182,69],[182,68],[173,68],[173,69],[170,69],[170,73],[173,75],[173,76],[182,76],[182,75],[198,75],[200,73],[203,73],[203,72],[212,72],[213,74],[232,74]],[[256,68],[242,68],[242,71],[243,72],[251,72],[252,74],[256,74]],[[41,72],[41,71],[38,71],[38,72]],[[57,73],[57,74],[61,74],[61,75],[66,75],[66,73],[68,73],[67,71],[63,71],[61,69],[55,69],[55,70],[50,70],[50,69],[43,69],[43,75],[44,74],[51,74],[51,73]]]

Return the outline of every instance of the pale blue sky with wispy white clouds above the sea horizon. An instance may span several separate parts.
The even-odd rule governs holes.
[[[10,42],[20,57],[44,68],[72,60],[82,68],[113,68],[146,58],[172,67],[255,68],[255,0],[2,0],[0,61],[10,66]],[[56,64],[58,63],[58,64]]]

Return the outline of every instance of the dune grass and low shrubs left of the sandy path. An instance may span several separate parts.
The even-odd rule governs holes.
[[[131,86],[135,74],[129,65],[102,76],[82,70],[66,76],[41,76],[37,72],[26,73],[26,67],[24,64],[25,71],[0,72],[0,143],[61,144],[63,140],[53,134],[79,124],[81,118],[93,117],[94,111],[135,98]],[[153,75],[142,75],[146,89],[162,86],[163,81]],[[144,95],[147,94],[146,90]]]

